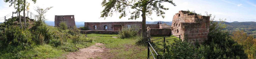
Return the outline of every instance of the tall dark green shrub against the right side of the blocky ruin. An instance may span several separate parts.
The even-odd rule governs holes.
[[[211,16],[207,15],[207,16]],[[247,58],[243,47],[232,40],[227,31],[223,31],[226,27],[224,21],[220,23],[214,22],[214,18],[210,21],[210,29],[208,40],[200,46],[199,51],[205,58]]]

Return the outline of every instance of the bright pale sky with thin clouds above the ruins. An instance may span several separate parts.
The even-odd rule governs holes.
[[[37,0],[34,4],[31,0],[30,11],[37,14],[34,10],[36,6],[47,8],[53,6],[47,13],[46,19],[54,21],[55,15],[74,15],[75,21],[78,22],[124,22],[124,21],[142,21],[142,17],[136,20],[128,20],[131,14],[128,13],[126,17],[119,19],[120,13],[113,13],[112,17],[100,18],[101,11],[104,7],[101,6],[102,0]],[[172,21],[175,13],[180,10],[195,10],[196,13],[202,15],[212,14],[218,19],[227,19],[227,22],[256,22],[256,0],[173,0],[177,6],[169,3],[163,3],[169,10],[164,10],[165,18],[158,17],[153,13],[151,18],[146,21]],[[5,3],[0,0],[0,22],[2,17],[16,11],[13,6],[9,7],[10,3]],[[133,10],[133,9],[131,9]],[[26,11],[27,12],[27,11]],[[15,14],[14,16],[17,16]],[[30,16],[30,13],[29,13]],[[7,17],[10,18],[10,17]]]

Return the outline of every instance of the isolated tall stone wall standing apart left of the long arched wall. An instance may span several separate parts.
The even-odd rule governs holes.
[[[55,26],[59,26],[60,22],[66,22],[68,28],[73,28],[76,26],[74,15],[63,15],[63,16],[57,16],[55,15]]]

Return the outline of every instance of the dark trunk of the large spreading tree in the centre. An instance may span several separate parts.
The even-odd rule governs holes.
[[[148,37],[147,37],[147,33],[146,33],[146,5],[143,7],[142,9],[142,28],[141,28],[141,32],[142,32],[142,39],[143,42],[146,43],[146,41],[148,41]]]

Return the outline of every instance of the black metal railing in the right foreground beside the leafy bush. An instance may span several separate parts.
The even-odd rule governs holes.
[[[178,38],[180,39],[180,35],[176,35],[176,36],[179,36]],[[174,36],[170,36],[170,37],[174,37]],[[171,39],[165,39],[165,38],[168,38],[168,37],[163,37],[163,38],[155,39],[155,40],[164,39],[162,41],[158,41],[158,42],[155,42],[155,43],[150,43],[151,41],[155,41],[155,40],[146,41],[147,42],[147,58],[148,59],[150,59],[150,56],[153,56],[154,59],[158,59],[160,55],[157,52],[159,52],[159,51],[161,51],[163,49],[164,49],[163,53],[165,53],[165,48],[166,48],[165,41],[166,40],[171,40]],[[172,38],[172,39],[177,39],[177,38]],[[160,49],[159,51],[156,51],[152,45],[156,44],[156,43],[159,43],[159,42],[164,42],[164,48]],[[152,52],[152,50],[150,48],[153,49],[153,52]],[[150,55],[150,53],[151,53],[151,55]],[[156,54],[156,57],[155,57],[154,54]]]

